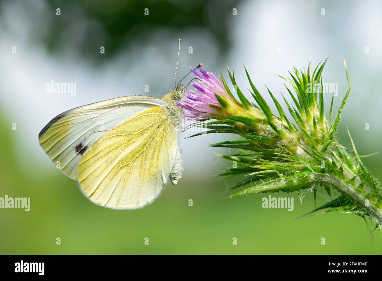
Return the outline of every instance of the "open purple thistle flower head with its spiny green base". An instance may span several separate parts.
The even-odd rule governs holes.
[[[252,95],[259,101],[261,108],[251,104],[236,85],[234,74],[231,74],[228,67],[227,69],[240,101],[233,96],[222,73],[219,80],[213,73],[200,67],[202,75],[194,70],[197,81],[192,86],[196,92],[187,90],[186,96],[178,103],[179,106],[184,106],[185,117],[194,120],[217,119],[204,124],[205,127],[214,129],[207,133],[227,133],[226,130],[229,130],[230,133],[237,133],[246,139],[244,142],[230,141],[215,145],[248,144],[251,147],[255,145],[258,148],[295,153],[298,150],[299,136],[288,123],[285,114],[282,112],[281,118],[276,117],[252,82]],[[280,106],[278,109],[282,110]],[[222,126],[223,124],[227,126]]]

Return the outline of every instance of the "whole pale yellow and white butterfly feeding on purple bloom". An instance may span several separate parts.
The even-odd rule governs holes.
[[[173,185],[180,180],[183,107],[176,102],[185,94],[181,81],[176,85],[180,42],[175,89],[162,99],[125,96],[76,107],[39,133],[45,153],[94,203],[140,208],[159,196],[168,178]]]

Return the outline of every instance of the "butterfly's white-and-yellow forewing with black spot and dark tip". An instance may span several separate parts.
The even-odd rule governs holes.
[[[72,179],[86,150],[106,132],[146,109],[167,102],[148,96],[127,96],[88,104],[63,112],[39,133],[39,142],[57,167]]]

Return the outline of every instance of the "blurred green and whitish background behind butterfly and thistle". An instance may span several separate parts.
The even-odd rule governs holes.
[[[222,150],[205,145],[223,136],[181,140],[185,171],[179,184],[132,211],[92,204],[37,141],[40,129],[67,109],[167,93],[180,37],[180,76],[199,62],[217,74],[227,62],[245,89],[244,63],[263,93],[264,84],[285,92],[273,73],[303,67],[311,55],[314,65],[329,55],[323,79],[339,84],[336,104],[346,90],[345,57],[353,91],[338,137],[349,145],[348,127],[360,154],[380,151],[382,36],[375,32],[382,30],[381,12],[378,1],[2,1],[0,197],[31,197],[31,210],[0,209],[0,254],[381,254],[381,232],[370,236],[373,225],[355,215],[293,221],[314,208],[311,193],[303,206],[293,195],[291,212],[261,208],[265,194],[221,200],[229,184],[212,176],[230,163],[215,156]],[[51,80],[76,83],[77,95],[46,94]],[[365,163],[381,177],[379,154]],[[317,205],[327,200],[322,196]]]

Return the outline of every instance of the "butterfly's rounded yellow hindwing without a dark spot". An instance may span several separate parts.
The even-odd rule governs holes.
[[[100,205],[142,207],[161,192],[174,163],[179,162],[177,151],[178,133],[169,109],[153,107],[123,121],[93,143],[79,162],[78,182]]]

